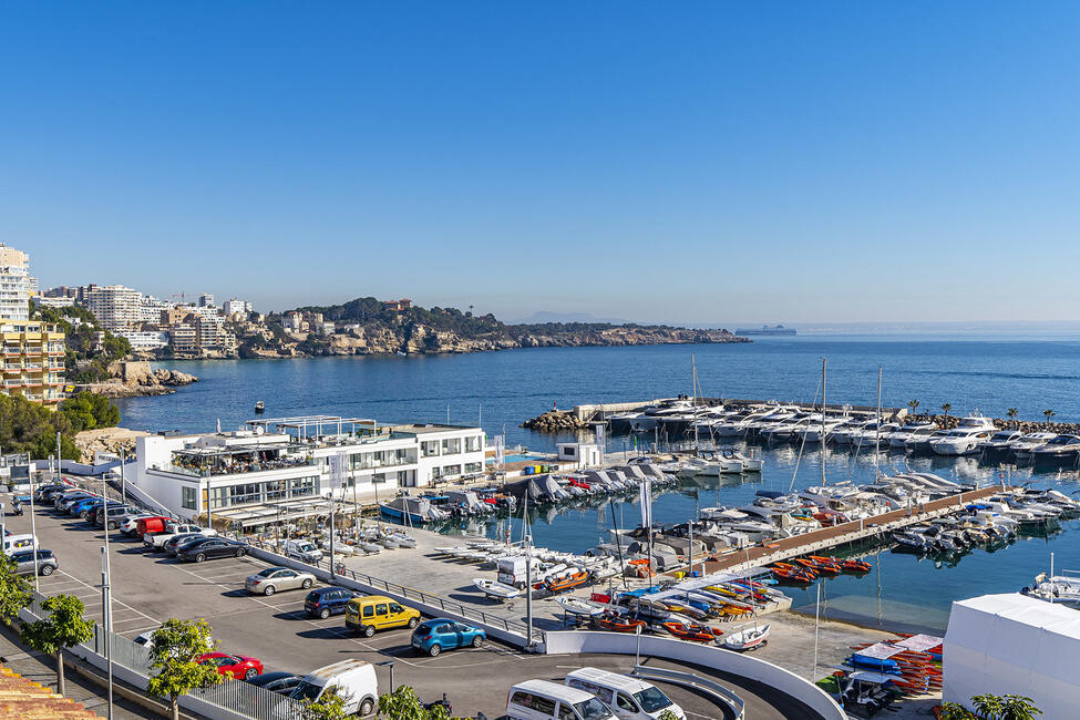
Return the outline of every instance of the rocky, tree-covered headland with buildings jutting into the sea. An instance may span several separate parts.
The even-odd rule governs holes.
[[[514,348],[750,342],[726,330],[668,325],[539,322],[507,325],[487,313],[357,298],[230,321],[240,358],[434,354]],[[167,357],[167,349],[158,358]]]

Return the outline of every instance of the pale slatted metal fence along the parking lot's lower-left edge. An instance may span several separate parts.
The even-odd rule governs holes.
[[[44,595],[34,593],[25,609],[35,618],[43,619],[49,616],[49,611],[42,607],[44,600]],[[150,650],[121,635],[110,632],[99,624],[94,624],[93,637],[78,647],[85,654],[105,658],[106,642],[114,665],[150,679],[153,673]],[[295,700],[243,680],[225,680],[205,690],[193,690],[188,695],[253,720],[301,720],[305,717],[302,706]]]

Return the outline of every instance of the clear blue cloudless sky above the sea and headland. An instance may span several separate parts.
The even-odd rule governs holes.
[[[44,286],[1074,319],[1080,6],[0,4]]]

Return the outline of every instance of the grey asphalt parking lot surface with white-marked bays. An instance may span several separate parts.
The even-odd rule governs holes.
[[[4,504],[10,506],[7,498]],[[29,512],[22,517],[9,515],[7,524],[11,532],[29,532]],[[103,532],[81,520],[56,515],[51,508],[37,513],[35,524],[42,547],[54,551],[60,558],[56,573],[39,578],[41,592],[76,595],[90,615],[100,617]],[[259,559],[245,556],[183,563],[164,554],[146,553],[141,542],[119,532],[110,534],[110,544],[116,632],[134,638],[167,618],[205,618],[222,651],[259,658],[267,671],[304,675],[344,658],[392,661],[394,683],[414,687],[424,700],[439,699],[446,692],[455,713],[483,711],[488,718],[497,718],[505,708],[510,686],[516,681],[558,679],[583,665],[626,672],[634,661],[620,656],[534,655],[496,641],[435,658],[420,656],[410,647],[411,632],[405,628],[363,638],[346,628],[342,615],[325,620],[308,617],[302,589],[269,597],[247,593],[245,578],[268,566]],[[382,691],[389,689],[389,667],[379,669]],[[810,717],[783,700],[761,699],[744,681],[728,680],[733,680],[732,689],[745,699],[748,714],[752,710],[754,718]],[[688,717],[719,717],[718,708],[708,698],[670,686],[665,690],[688,711]]]

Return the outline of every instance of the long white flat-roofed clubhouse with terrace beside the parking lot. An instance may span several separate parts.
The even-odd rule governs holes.
[[[251,420],[247,428],[140,438],[127,480],[182,517],[205,517],[208,507],[217,520],[253,527],[323,514],[330,495],[344,503],[389,500],[400,488],[484,467],[480,428],[331,415]]]

